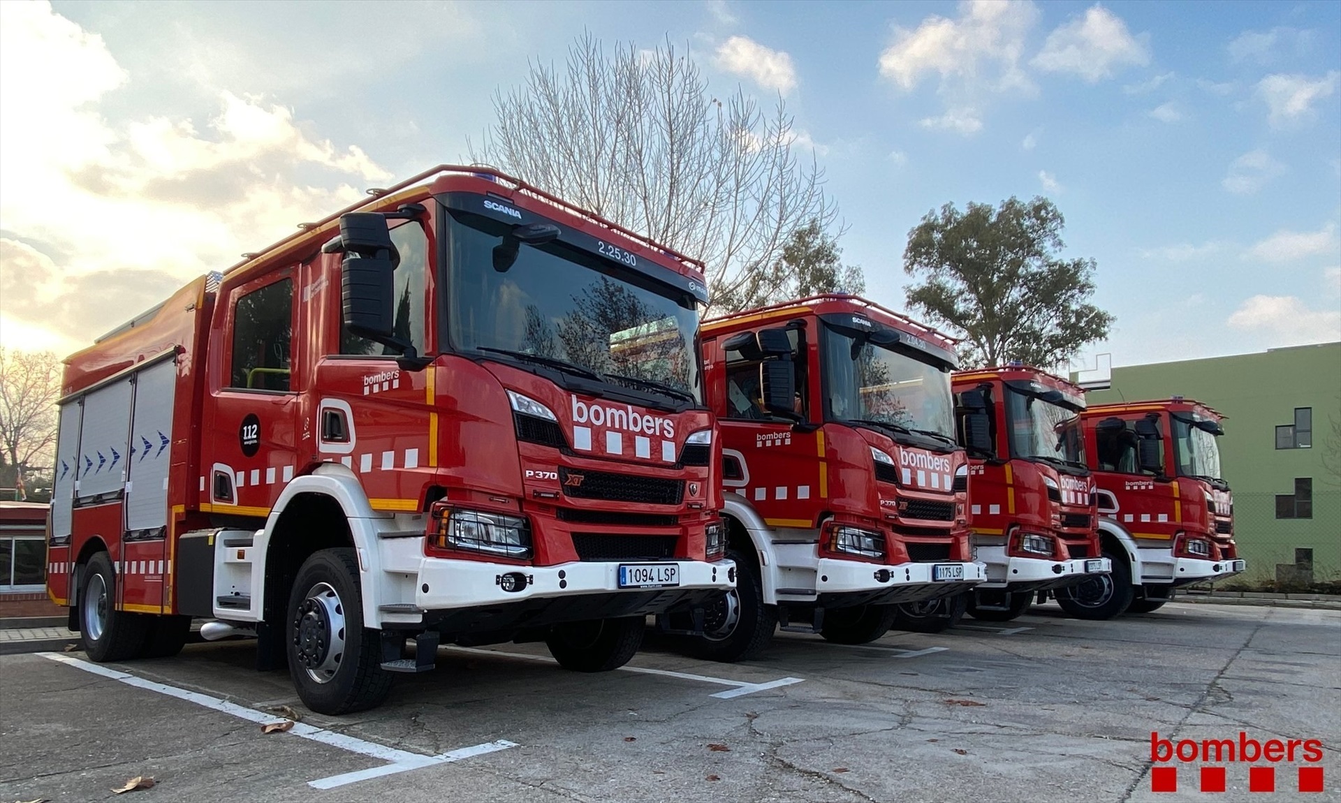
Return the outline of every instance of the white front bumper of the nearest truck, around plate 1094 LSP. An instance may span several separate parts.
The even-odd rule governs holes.
[[[636,566],[634,562],[625,562]],[[680,582],[660,589],[621,589],[620,562],[575,562],[558,566],[512,566],[479,560],[425,558],[418,571],[414,605],[420,610],[449,610],[522,602],[532,598],[581,597],[583,594],[632,594],[649,590],[720,590],[736,587],[732,560],[658,560],[679,567]],[[504,591],[504,574],[527,578],[520,591]]]

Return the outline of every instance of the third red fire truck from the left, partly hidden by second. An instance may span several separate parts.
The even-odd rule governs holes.
[[[1085,462],[1085,391],[1018,363],[956,373],[953,389],[974,558],[987,566],[967,613],[1006,622],[1047,595],[1069,609],[1066,589],[1112,568]]]

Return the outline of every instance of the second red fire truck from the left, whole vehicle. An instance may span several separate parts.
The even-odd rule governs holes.
[[[692,652],[748,658],[779,625],[862,643],[890,627],[896,603],[984,579],[970,554],[952,339],[826,295],[705,323],[701,349],[738,584],[708,607]]]

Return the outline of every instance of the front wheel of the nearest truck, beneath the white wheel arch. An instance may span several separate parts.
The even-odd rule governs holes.
[[[314,552],[298,570],[284,627],[288,673],[307,708],[326,715],[374,708],[392,689],[381,635],[363,627],[354,550]]]

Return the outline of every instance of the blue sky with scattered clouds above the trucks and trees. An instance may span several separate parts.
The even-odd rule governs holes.
[[[921,216],[1042,194],[1117,316],[1073,367],[1341,339],[1338,3],[11,0],[0,345],[74,351],[465,160],[585,32],[782,97],[876,302]]]

